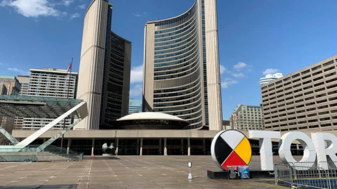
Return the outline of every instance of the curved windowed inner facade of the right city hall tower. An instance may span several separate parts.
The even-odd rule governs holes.
[[[206,77],[206,57],[205,49],[201,50],[200,13],[196,1],[184,14],[155,22],[154,83],[160,90],[154,90],[153,111],[187,120],[189,128],[203,125],[203,98],[207,98],[203,94],[207,85],[201,77]]]

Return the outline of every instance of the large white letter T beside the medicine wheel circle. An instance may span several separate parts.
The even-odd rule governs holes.
[[[249,138],[258,138],[260,146],[261,170],[274,170],[272,139],[280,139],[279,131],[250,130]]]

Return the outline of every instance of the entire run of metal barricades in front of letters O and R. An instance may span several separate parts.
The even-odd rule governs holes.
[[[320,162],[318,165],[324,167],[314,167],[316,164],[312,163],[275,164],[275,184],[285,183],[292,188],[337,188],[337,162]]]

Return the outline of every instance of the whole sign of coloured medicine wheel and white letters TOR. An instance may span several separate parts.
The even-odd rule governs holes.
[[[249,130],[249,139],[258,139],[260,147],[261,170],[274,170],[272,139],[279,140],[278,153],[283,163],[303,162],[306,167],[315,164],[327,169],[327,161],[333,161],[337,167],[337,137],[331,133],[313,132],[307,134],[295,131],[287,132],[281,137],[280,131]],[[248,138],[237,130],[220,131],[212,140],[211,155],[214,163],[223,170],[227,166],[246,166],[252,156]],[[297,161],[291,152],[291,145],[298,141],[303,147],[303,157]],[[309,168],[301,168],[309,169]]]

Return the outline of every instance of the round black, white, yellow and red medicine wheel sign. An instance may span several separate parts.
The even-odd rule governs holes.
[[[252,148],[242,132],[223,130],[213,138],[211,154],[214,163],[227,170],[227,166],[247,166],[252,157]]]

